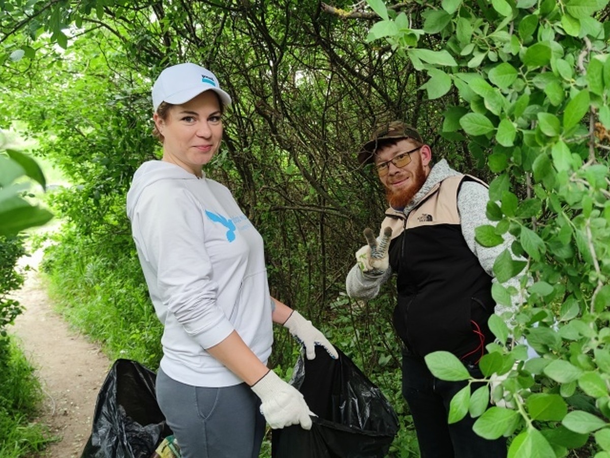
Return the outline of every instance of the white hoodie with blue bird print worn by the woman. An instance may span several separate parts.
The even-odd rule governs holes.
[[[127,216],[165,328],[163,372],[198,387],[241,383],[205,350],[233,330],[267,363],[273,323],[263,241],[231,192],[178,165],[149,161],[135,172]]]

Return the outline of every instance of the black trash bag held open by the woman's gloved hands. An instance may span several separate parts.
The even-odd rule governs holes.
[[[313,417],[310,431],[299,425],[271,432],[273,458],[382,458],[398,432],[392,405],[343,352],[339,359],[317,346],[315,359],[303,355],[291,384]]]

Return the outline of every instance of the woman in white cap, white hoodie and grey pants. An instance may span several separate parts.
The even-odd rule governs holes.
[[[127,214],[164,326],[157,399],[183,457],[257,457],[265,420],[311,427],[301,393],[265,366],[272,323],[287,327],[308,358],[315,344],[334,357],[336,350],[270,296],[260,234],[202,170],[218,151],[231,104],[217,78],[195,64],[166,68],[152,103],[163,157],[135,172]]]

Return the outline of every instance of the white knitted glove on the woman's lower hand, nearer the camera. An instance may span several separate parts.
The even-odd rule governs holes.
[[[273,429],[291,424],[301,424],[303,429],[311,429],[310,411],[303,394],[276,373],[270,370],[250,388],[260,398],[260,413]]]

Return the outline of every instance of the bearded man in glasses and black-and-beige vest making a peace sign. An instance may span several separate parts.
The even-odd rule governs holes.
[[[490,224],[487,186],[451,169],[445,159],[432,166],[429,145],[402,122],[379,128],[358,158],[363,165],[374,164],[390,208],[379,245],[368,233],[369,243],[356,253],[347,293],[372,299],[397,275],[393,322],[404,342],[403,395],[422,457],[504,457],[505,438],[479,437],[470,415],[448,424],[451,398],[465,382],[436,379],[423,359],[449,351],[481,378],[478,362],[494,338],[487,319],[492,313],[514,314],[513,308],[495,304],[491,294],[493,262],[508,242],[493,248],[475,242],[475,228]]]

